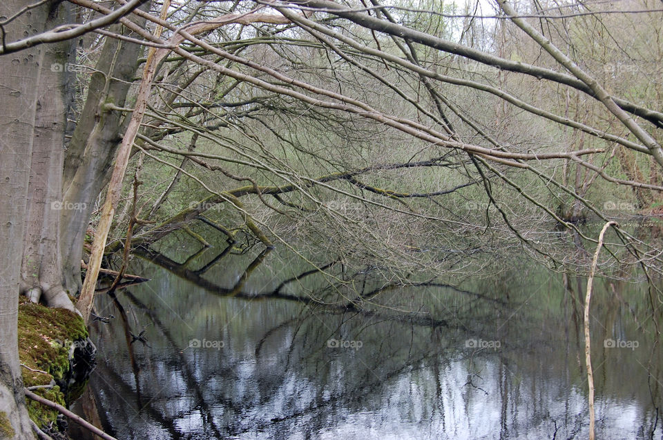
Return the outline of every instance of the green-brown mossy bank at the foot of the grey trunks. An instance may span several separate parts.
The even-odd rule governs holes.
[[[48,385],[59,380],[69,369],[69,350],[74,341],[88,337],[88,331],[79,315],[65,309],[48,308],[30,303],[21,297],[19,303],[19,357],[21,363],[41,370],[23,368],[26,387]],[[35,390],[50,401],[65,405],[65,396],[58,386]],[[30,418],[39,426],[55,422],[57,411],[28,399]]]

